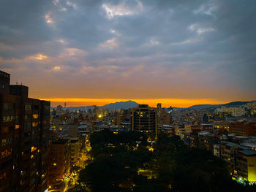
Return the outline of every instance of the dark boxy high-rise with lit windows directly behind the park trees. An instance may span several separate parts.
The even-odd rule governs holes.
[[[157,109],[139,104],[131,110],[132,131],[154,133],[157,136]]]

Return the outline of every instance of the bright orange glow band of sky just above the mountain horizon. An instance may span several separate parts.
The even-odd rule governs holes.
[[[67,107],[71,106],[89,106],[97,105],[102,106],[118,101],[127,101],[129,99],[83,99],[83,98],[52,98],[43,99],[51,102],[52,107],[57,105],[64,106],[64,102],[67,103]],[[148,104],[151,107],[157,106],[157,103],[162,103],[162,107],[189,107],[195,104],[225,104],[228,101],[217,101],[214,99],[131,99],[138,104]]]

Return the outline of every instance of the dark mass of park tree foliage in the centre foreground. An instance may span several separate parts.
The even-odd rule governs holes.
[[[145,134],[106,130],[92,134],[90,141],[93,160],[80,171],[78,185],[69,191],[255,190],[233,182],[225,161],[207,150],[187,147],[176,136],[159,133],[151,146]],[[138,169],[157,172],[157,176],[143,176]]]

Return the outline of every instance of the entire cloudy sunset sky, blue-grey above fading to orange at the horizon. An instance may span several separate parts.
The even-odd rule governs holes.
[[[0,0],[0,70],[81,106],[256,99],[255,0]]]

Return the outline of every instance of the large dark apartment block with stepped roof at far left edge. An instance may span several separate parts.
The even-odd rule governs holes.
[[[0,71],[0,192],[47,188],[50,102],[28,92]]]

